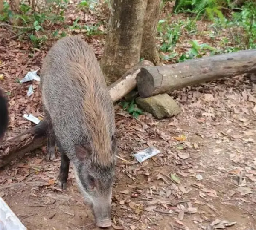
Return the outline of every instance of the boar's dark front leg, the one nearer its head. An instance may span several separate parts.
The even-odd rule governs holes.
[[[58,176],[58,186],[65,190],[67,188],[67,178],[68,178],[68,171],[69,171],[69,164],[70,160],[67,157],[67,155],[61,150],[59,147],[59,150],[61,152],[61,166],[60,166],[60,173]]]

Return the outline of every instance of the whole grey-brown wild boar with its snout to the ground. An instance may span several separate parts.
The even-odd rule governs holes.
[[[58,40],[41,69],[48,127],[47,160],[61,153],[59,186],[65,189],[70,161],[98,227],[111,227],[116,163],[113,102],[93,49],[80,36]]]

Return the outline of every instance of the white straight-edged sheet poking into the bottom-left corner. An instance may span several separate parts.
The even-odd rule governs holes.
[[[27,230],[15,216],[3,198],[0,197],[0,230]]]

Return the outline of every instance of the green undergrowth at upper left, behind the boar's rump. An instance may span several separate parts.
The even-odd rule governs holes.
[[[20,12],[14,14],[9,3],[4,1],[4,9],[0,14],[0,24],[12,29],[12,37],[20,40],[29,39],[35,47],[39,47],[49,39],[58,39],[67,35],[67,31],[75,31],[87,36],[101,35],[100,23],[82,23],[83,17],[77,17],[71,26],[65,23],[65,14],[68,0],[46,0],[41,5],[32,7],[29,3],[21,1]],[[76,9],[85,14],[95,9],[96,0],[82,0]],[[12,26],[9,25],[12,22]]]

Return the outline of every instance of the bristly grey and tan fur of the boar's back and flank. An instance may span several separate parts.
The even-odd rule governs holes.
[[[113,164],[113,103],[90,46],[80,36],[62,38],[49,50],[41,75],[44,105],[69,158],[74,144],[89,144],[96,165]]]

